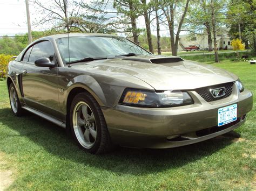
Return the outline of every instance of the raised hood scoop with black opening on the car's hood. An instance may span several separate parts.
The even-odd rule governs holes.
[[[146,62],[146,63],[173,63],[173,62],[184,61],[182,58],[177,56],[160,57],[160,58],[131,56],[131,57],[123,58],[123,60],[131,60],[131,61]]]

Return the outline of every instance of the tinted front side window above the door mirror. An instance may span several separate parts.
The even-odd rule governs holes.
[[[39,58],[49,58],[52,60],[54,54],[54,49],[49,41],[43,41],[41,43],[35,44],[29,56],[29,62],[35,63]]]

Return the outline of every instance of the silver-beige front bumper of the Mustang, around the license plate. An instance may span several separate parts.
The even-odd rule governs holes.
[[[238,128],[252,109],[249,90],[239,93],[236,86],[230,97],[206,102],[196,91],[189,91],[193,105],[174,108],[137,108],[117,105],[102,107],[112,141],[121,146],[171,148],[198,143]],[[237,121],[218,127],[218,109],[238,104]]]

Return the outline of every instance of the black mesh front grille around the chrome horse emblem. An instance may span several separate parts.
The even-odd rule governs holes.
[[[218,85],[214,85],[214,86],[207,86],[204,88],[198,88],[195,91],[204,98],[204,100],[206,102],[212,102],[215,100],[221,100],[223,98],[229,97],[232,94],[233,91],[233,84],[234,82],[230,82],[230,83],[222,83],[222,84],[218,84]],[[210,89],[215,89],[215,88],[221,88],[221,87],[225,87],[225,95],[222,97],[213,97],[212,94],[210,93]]]

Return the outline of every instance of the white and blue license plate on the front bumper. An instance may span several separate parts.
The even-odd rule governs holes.
[[[237,120],[237,104],[220,108],[218,110],[218,126],[222,126]]]

